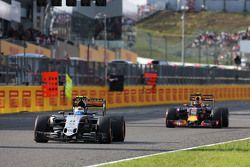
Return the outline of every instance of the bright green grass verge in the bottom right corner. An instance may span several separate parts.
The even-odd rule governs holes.
[[[105,167],[249,167],[250,140],[166,153]]]

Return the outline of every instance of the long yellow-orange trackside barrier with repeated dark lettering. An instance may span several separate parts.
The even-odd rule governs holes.
[[[109,92],[107,87],[74,87],[72,94],[105,98],[108,108],[187,103],[194,92],[213,94],[215,101],[250,100],[250,86],[128,86],[123,92]],[[43,97],[41,86],[1,86],[0,114],[21,111],[43,112],[70,110],[72,99],[67,99],[60,86],[58,97]]]

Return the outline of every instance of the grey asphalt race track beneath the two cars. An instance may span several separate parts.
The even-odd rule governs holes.
[[[250,103],[223,102],[230,110],[229,128],[174,128],[164,124],[171,106],[124,108],[108,111],[123,114],[127,123],[124,143],[90,144],[33,141],[36,115],[0,115],[1,167],[80,167],[169,150],[212,144],[250,136]],[[173,106],[173,105],[172,105]]]

